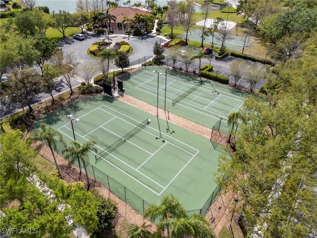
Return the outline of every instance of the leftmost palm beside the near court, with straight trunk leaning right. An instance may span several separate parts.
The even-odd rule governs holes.
[[[46,126],[45,123],[41,123],[40,128],[33,130],[32,133],[33,133],[36,140],[45,141],[45,143],[51,149],[53,159],[55,162],[55,166],[56,166],[56,169],[58,171],[58,175],[62,179],[62,176],[61,176],[61,173],[59,171],[59,167],[58,167],[58,164],[56,161],[55,153],[54,153],[54,150],[56,150],[57,142],[65,145],[65,141],[63,140],[62,134],[59,131],[54,130],[51,126]]]

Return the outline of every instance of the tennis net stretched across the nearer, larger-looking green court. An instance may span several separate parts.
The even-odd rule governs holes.
[[[111,152],[113,152],[114,150],[116,150],[120,145],[122,145],[124,142],[126,142],[127,140],[129,140],[131,137],[133,137],[134,135],[136,135],[139,131],[141,131],[144,127],[146,127],[148,124],[150,123],[150,119],[146,119],[143,122],[141,122],[140,124],[138,124],[134,129],[132,129],[131,131],[129,131],[128,133],[126,133],[124,136],[122,136],[120,139],[116,140],[115,142],[113,142],[111,145],[107,146],[106,149],[104,149],[103,151],[106,151],[105,154],[103,155],[95,155],[96,158],[96,163],[98,160],[105,158],[108,154],[110,154]]]

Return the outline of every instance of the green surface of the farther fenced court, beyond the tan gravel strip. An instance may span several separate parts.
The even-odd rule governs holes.
[[[220,118],[226,122],[231,112],[243,106],[247,95],[213,81],[203,80],[201,84],[198,77],[164,67],[148,66],[123,78],[123,81],[127,94],[154,106],[157,106],[159,97],[159,108],[209,128]]]

